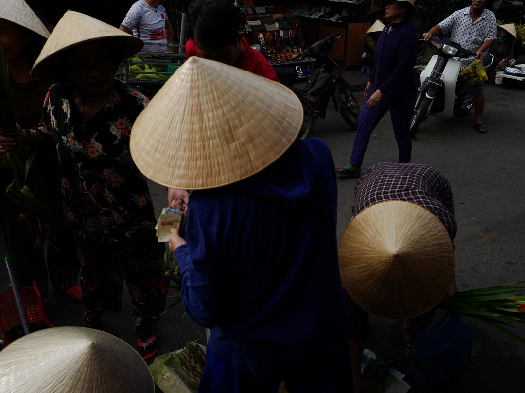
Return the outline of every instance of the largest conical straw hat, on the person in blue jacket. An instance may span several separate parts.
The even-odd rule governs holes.
[[[192,57],[135,120],[140,171],[168,187],[220,187],[266,168],[296,139],[302,106],[278,82]]]

